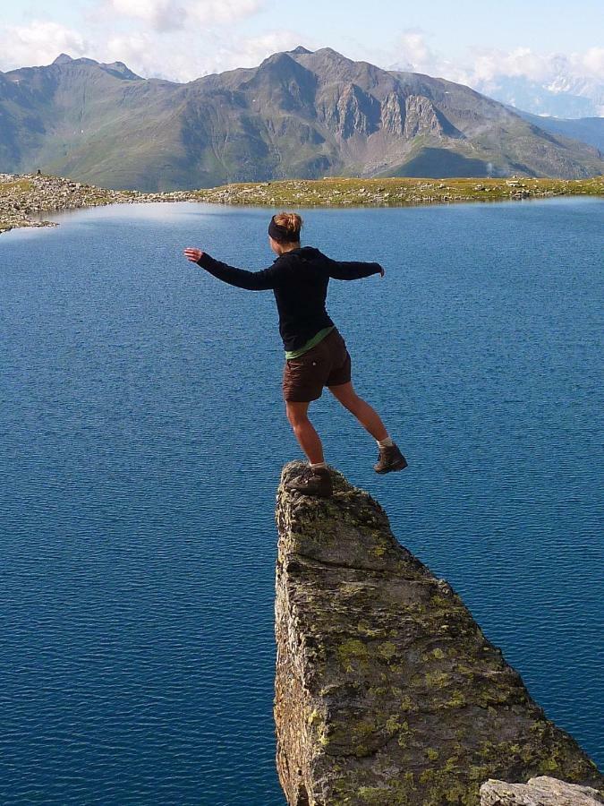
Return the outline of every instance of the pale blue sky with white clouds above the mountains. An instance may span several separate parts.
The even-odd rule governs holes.
[[[0,70],[64,51],[191,81],[279,50],[353,59],[483,87],[496,75],[604,83],[602,0],[0,0]]]

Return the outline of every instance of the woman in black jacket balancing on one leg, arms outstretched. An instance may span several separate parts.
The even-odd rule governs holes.
[[[268,242],[277,257],[272,266],[262,271],[235,269],[200,249],[185,249],[184,254],[231,286],[273,291],[285,346],[285,410],[310,466],[310,472],[290,484],[289,489],[328,497],[332,493],[331,476],[319,434],[308,417],[311,400],[320,398],[324,386],[378,442],[376,473],[403,470],[407,462],[390,439],[378,412],[353,390],[345,340],[325,307],[329,278],[351,280],[371,274],[383,277],[384,270],[379,263],[334,261],[313,246],[301,246],[301,227],[302,219],[297,213],[273,216],[268,225]]]

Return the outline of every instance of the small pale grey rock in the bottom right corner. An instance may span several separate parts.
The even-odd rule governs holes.
[[[591,786],[566,784],[557,778],[538,776],[527,784],[485,781],[481,806],[599,806],[601,794]]]

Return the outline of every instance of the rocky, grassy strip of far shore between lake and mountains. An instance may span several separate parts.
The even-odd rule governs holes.
[[[398,207],[457,201],[539,199],[604,195],[604,176],[591,179],[284,179],[225,184],[170,193],[107,190],[61,176],[0,174],[0,232],[13,227],[50,227],[45,212],[149,201],[207,201],[267,207]]]

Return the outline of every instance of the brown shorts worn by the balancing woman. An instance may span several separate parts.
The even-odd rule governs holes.
[[[298,403],[317,400],[324,386],[339,386],[350,379],[350,354],[339,330],[334,328],[302,356],[285,359],[283,397]]]

